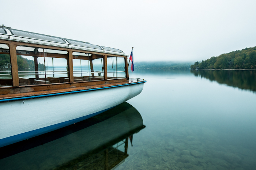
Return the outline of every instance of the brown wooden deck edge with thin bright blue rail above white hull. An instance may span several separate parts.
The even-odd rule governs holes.
[[[124,78],[113,80],[94,80],[90,82],[39,84],[9,88],[5,87],[5,89],[0,91],[0,102],[26,99],[27,97],[37,98],[47,97],[47,95],[62,95],[74,92],[100,90],[103,88],[113,88],[145,82],[146,80]]]

